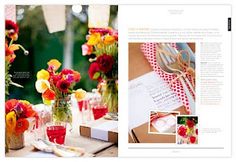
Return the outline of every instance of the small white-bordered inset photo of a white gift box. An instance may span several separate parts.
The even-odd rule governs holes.
[[[177,111],[151,111],[149,116],[149,131],[151,134],[175,134]]]

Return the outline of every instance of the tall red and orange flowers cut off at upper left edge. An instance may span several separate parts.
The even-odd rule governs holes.
[[[11,21],[5,21],[5,94],[9,95],[9,86],[15,85],[22,87],[21,85],[14,83],[11,80],[11,74],[9,73],[11,64],[14,62],[16,55],[15,51],[22,49],[25,55],[29,52],[24,49],[20,44],[14,43],[18,39],[19,27],[18,25]]]

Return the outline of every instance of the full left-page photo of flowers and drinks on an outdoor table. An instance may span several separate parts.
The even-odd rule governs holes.
[[[5,5],[5,156],[118,156],[118,6]]]

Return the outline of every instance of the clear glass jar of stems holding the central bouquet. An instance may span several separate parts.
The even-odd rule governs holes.
[[[54,122],[72,122],[71,96],[55,99],[52,106],[52,117]]]

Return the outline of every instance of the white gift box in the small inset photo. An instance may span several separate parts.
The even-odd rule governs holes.
[[[168,115],[158,118],[152,122],[152,126],[159,133],[174,133],[176,130],[176,118],[174,115]]]

